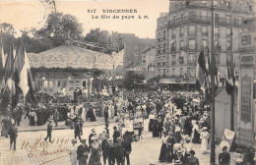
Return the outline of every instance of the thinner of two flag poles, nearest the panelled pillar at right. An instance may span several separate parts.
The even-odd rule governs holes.
[[[233,25],[232,25],[232,15],[233,15],[233,10],[232,10],[232,2],[230,1],[230,10],[231,10],[231,15],[230,15],[230,71],[231,71],[231,79],[232,79],[232,91],[230,94],[230,130],[234,131],[234,126],[233,126],[233,104],[234,104],[234,81],[233,81]]]

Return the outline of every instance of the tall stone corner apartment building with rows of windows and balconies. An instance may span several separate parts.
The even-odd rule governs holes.
[[[156,76],[168,78],[169,83],[195,83],[202,47],[209,48],[211,54],[210,8],[211,1],[171,1],[168,14],[160,14],[156,34]],[[226,58],[231,52],[231,27],[233,56],[237,63],[239,33],[247,28],[242,20],[252,16],[253,1],[215,1],[215,45],[221,85],[224,85]],[[189,75],[189,81],[183,79],[185,74]]]

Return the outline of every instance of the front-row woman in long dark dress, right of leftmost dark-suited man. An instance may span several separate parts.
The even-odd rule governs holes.
[[[89,160],[90,165],[101,165],[100,162],[100,145],[97,142],[96,138],[92,138],[93,143],[91,144],[91,156]]]

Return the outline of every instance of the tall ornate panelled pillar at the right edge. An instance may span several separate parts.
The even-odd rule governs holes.
[[[243,22],[247,30],[239,36],[237,142],[256,148],[255,18]]]

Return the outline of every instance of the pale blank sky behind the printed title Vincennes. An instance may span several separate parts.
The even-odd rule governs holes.
[[[45,10],[46,9],[46,10]],[[136,10],[136,13],[103,13],[102,10]],[[56,0],[57,12],[71,14],[83,24],[84,34],[90,29],[135,33],[141,38],[156,37],[157,19],[160,13],[167,13],[168,0]],[[95,13],[88,10],[96,10]],[[40,28],[45,23],[45,16],[50,13],[39,0],[0,0],[0,23],[12,24],[20,35],[24,28]],[[101,15],[110,17],[101,19]],[[98,19],[96,19],[96,16]],[[114,19],[114,16],[119,16]],[[139,19],[139,16],[143,19]],[[147,16],[144,19],[144,16]]]

